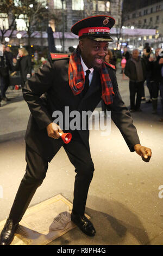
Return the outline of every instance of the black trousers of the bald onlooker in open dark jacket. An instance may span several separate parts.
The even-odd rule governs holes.
[[[143,92],[143,81],[142,82],[132,82],[129,81],[130,90],[130,109],[139,109],[141,104],[141,97]],[[136,95],[136,104],[135,104]]]

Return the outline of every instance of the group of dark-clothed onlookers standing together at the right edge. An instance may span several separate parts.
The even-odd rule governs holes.
[[[127,51],[124,51],[124,53]],[[129,53],[129,52],[128,52]],[[124,55],[122,55],[124,56]],[[122,59],[123,60],[123,59]],[[157,114],[158,96],[161,97],[160,122],[163,121],[163,49],[159,47],[154,53],[150,46],[146,45],[143,55],[134,49],[131,55],[127,55],[124,74],[129,78],[130,112],[142,111],[140,106],[145,97],[145,82],[149,91],[149,100],[152,104],[152,114]],[[135,100],[136,96],[136,100]]]

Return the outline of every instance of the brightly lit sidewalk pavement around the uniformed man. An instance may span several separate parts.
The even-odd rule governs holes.
[[[118,85],[123,101],[129,107],[128,80]],[[145,94],[149,96],[145,87]],[[29,110],[21,91],[8,91],[12,98],[0,108],[0,221],[7,218],[17,188],[24,175],[24,140]],[[148,97],[149,98],[149,97]],[[95,225],[95,237],[87,237],[78,228],[54,240],[50,245],[163,245],[163,123],[159,115],[152,115],[152,105],[142,103],[142,112],[134,112],[134,124],[142,145],[152,148],[149,163],[131,153],[120,131],[111,122],[111,134],[90,131],[91,156],[95,173],[86,204],[86,213]],[[101,110],[98,106],[96,110]],[[65,151],[61,150],[49,163],[45,180],[32,199],[30,206],[57,194],[73,201],[74,167]]]

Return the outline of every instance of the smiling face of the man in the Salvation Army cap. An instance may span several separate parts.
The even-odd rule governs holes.
[[[88,38],[79,41],[81,56],[88,68],[101,68],[108,53],[108,44],[107,41],[94,41]]]

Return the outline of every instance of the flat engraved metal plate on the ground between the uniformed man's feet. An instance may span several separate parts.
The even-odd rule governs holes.
[[[19,223],[11,245],[47,245],[76,227],[71,222],[71,210],[72,204],[60,194],[30,207]],[[0,231],[5,222],[6,219],[0,222]]]

